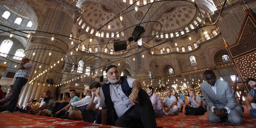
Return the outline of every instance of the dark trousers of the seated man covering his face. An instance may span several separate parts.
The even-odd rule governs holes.
[[[84,122],[93,123],[96,120],[99,124],[101,124],[101,110],[97,111],[88,111],[84,109],[82,111],[82,117]]]

